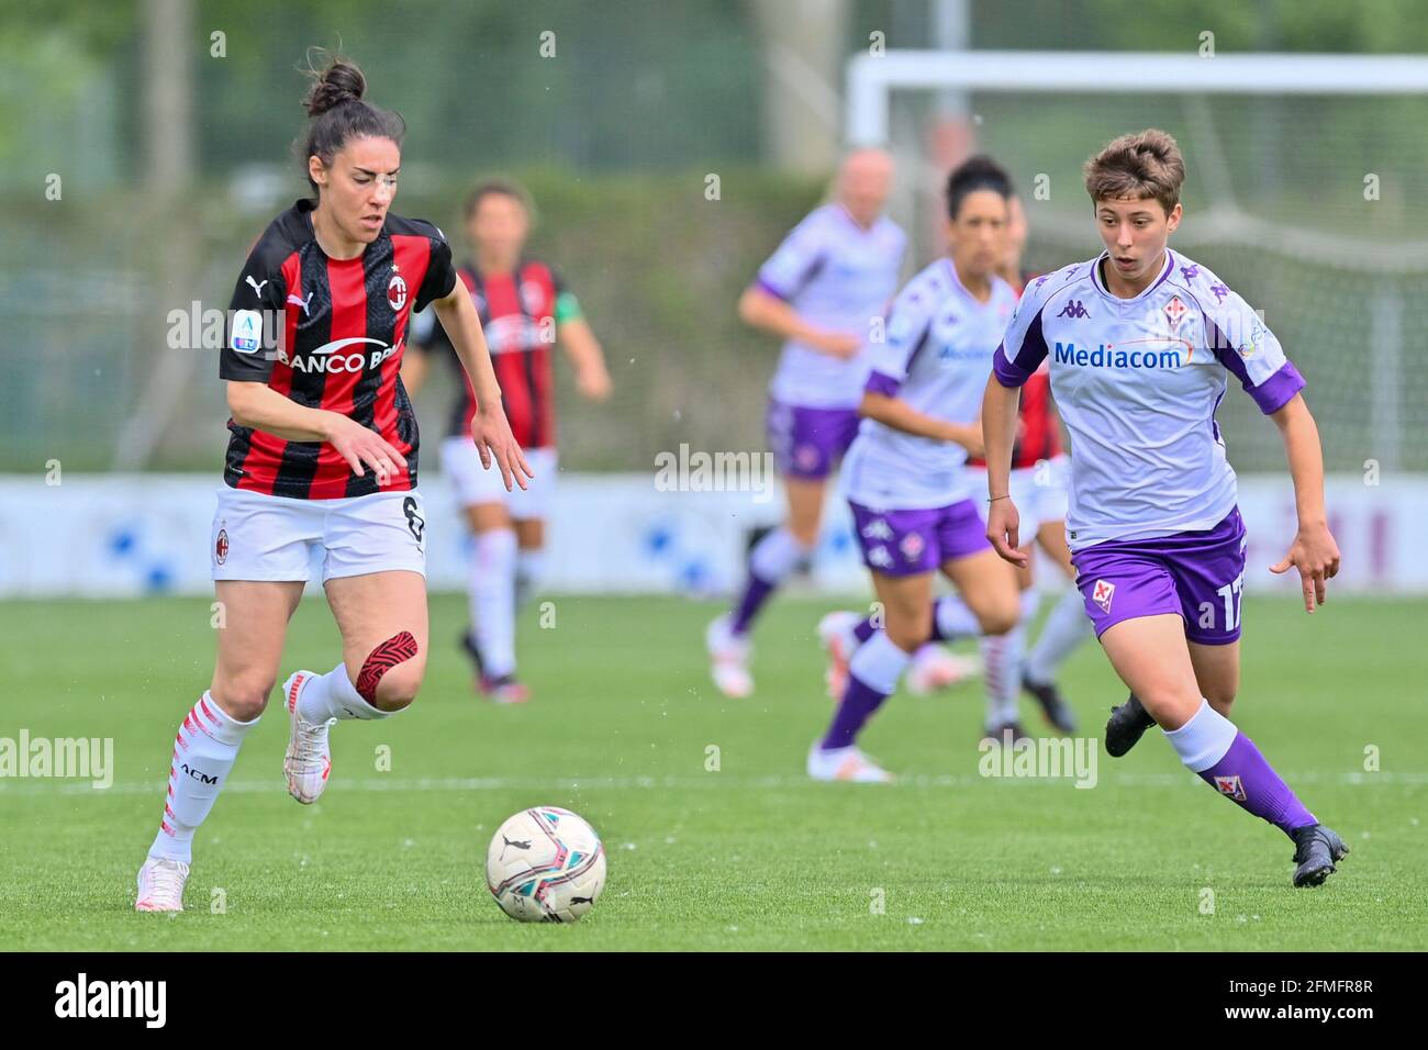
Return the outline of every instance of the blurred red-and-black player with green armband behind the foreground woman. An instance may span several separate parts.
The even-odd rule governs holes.
[[[538,480],[508,491],[483,469],[470,439],[481,399],[443,327],[416,319],[413,347],[423,353],[410,354],[401,374],[416,393],[434,354],[456,369],[461,393],[441,443],[441,473],[451,479],[476,537],[467,583],[471,627],[461,633],[461,646],[486,696],[521,703],[528,691],[516,677],[516,611],[540,586],[557,473],[553,344],[558,341],[570,357],[575,389],[585,397],[610,397],[610,373],[575,296],[547,263],[526,254],[531,227],[526,191],[506,180],[484,181],[471,190],[464,214],[471,260],[457,273],[491,346],[506,414]]]

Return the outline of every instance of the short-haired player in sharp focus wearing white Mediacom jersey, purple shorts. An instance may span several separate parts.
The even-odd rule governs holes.
[[[1224,281],[1168,249],[1185,163],[1148,130],[1092,157],[1085,186],[1105,250],[1038,279],[987,384],[987,534],[1022,564],[1008,469],[1020,386],[1042,360],[1071,431],[1067,539],[1087,614],[1131,700],[1107,724],[1124,754],[1160,724],[1181,761],[1295,844],[1295,886],[1318,886],[1348,853],[1230,721],[1240,687],[1245,530],[1215,423],[1234,376],[1279,429],[1299,529],[1288,554],[1312,613],[1339,553],[1324,513],[1318,429],[1304,379]]]

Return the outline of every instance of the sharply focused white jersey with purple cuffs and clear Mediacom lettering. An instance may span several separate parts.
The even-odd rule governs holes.
[[[1167,250],[1155,281],[1118,299],[1105,259],[1037,279],[997,350],[1007,387],[1050,359],[1071,433],[1072,550],[1212,529],[1235,506],[1215,423],[1227,373],[1265,414],[1304,387],[1274,333],[1204,266]]]

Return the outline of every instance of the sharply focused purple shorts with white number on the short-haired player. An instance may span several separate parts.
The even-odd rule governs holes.
[[[1095,636],[1121,620],[1178,613],[1202,646],[1240,639],[1245,526],[1235,507],[1214,529],[1158,540],[1110,540],[1071,556]]]

